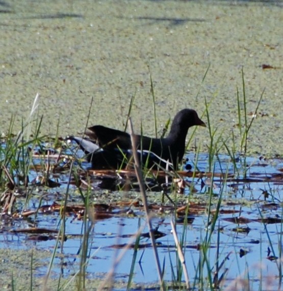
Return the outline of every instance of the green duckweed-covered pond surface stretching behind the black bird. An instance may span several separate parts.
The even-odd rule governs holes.
[[[122,129],[135,96],[135,128],[154,136],[151,73],[159,133],[183,108],[201,116],[206,99],[216,137],[230,137],[243,67],[248,113],[265,89],[249,154],[281,156],[282,14],[273,0],[1,1],[1,134],[12,114],[20,130],[38,92],[42,134],[76,135],[87,121]]]

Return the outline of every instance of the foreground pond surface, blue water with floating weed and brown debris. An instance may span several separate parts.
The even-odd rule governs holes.
[[[283,231],[283,161],[239,156],[236,162],[232,163],[229,156],[221,155],[214,159],[214,175],[212,175],[209,171],[208,154],[199,154],[196,163],[195,154],[190,153],[187,157],[188,163],[192,165],[191,171],[197,167],[197,173],[202,174],[194,178],[185,177],[186,182],[190,182],[190,186],[185,187],[184,194],[177,194],[176,189],[173,189],[168,191],[172,201],[165,197],[162,202],[161,192],[147,192],[153,228],[157,228],[163,235],[157,239],[157,247],[161,264],[165,263],[165,280],[170,282],[172,276],[177,276],[175,243],[170,225],[173,219],[176,222],[179,240],[184,240],[183,251],[191,284],[194,278],[197,278],[197,266],[203,256],[200,246],[204,244],[207,235],[211,234],[206,253],[210,268],[203,268],[203,278],[209,274],[214,276],[216,263],[223,262],[223,266],[218,270],[219,277],[225,273],[223,286],[229,288],[236,285],[237,288],[242,288],[244,281],[240,281],[239,278],[249,278],[250,289],[258,289],[261,282],[268,284],[273,278],[273,285],[272,287],[269,285],[269,290],[277,289],[279,282],[277,276],[280,275],[282,263],[278,257],[281,255]],[[89,165],[83,164],[83,166]],[[220,173],[224,174],[226,179]],[[38,175],[38,173],[31,174]],[[61,174],[60,178],[56,179],[61,182],[59,188],[49,190],[44,188],[44,190],[36,187],[31,190],[29,207],[25,208],[33,211],[39,207],[36,216],[14,219],[8,219],[6,215],[2,217],[1,248],[17,251],[31,248],[44,250],[49,252],[45,260],[49,261],[56,246],[58,229],[62,225],[53,202],[61,204],[63,201],[66,192],[64,185],[68,180],[68,174],[64,175]],[[103,207],[105,207],[105,210],[97,210],[95,221],[84,222],[78,215],[79,210],[68,212],[65,229],[67,240],[59,244],[56,251],[52,278],[58,278],[60,274],[63,278],[69,278],[79,270],[78,253],[83,244],[82,233],[87,226],[90,228],[87,277],[105,278],[113,266],[114,259],[127,244],[130,244],[115,271],[116,280],[127,282],[133,260],[135,234],[141,227],[141,232],[145,236],[141,236],[139,241],[133,281],[137,284],[143,283],[145,287],[158,283],[156,263],[150,240],[146,235],[148,228],[141,194],[133,190],[99,190],[97,187],[99,183],[95,181],[104,178],[105,176],[91,176],[91,185],[95,185],[96,190],[91,191],[90,197],[94,203],[100,206],[104,203]],[[76,192],[76,188],[71,186],[67,206],[75,208],[83,205]],[[215,214],[219,199],[221,199],[221,206],[215,228],[211,232],[212,214]],[[136,203],[131,206],[130,202],[134,201]],[[19,210],[23,207],[23,203],[24,198],[17,199],[16,205]],[[174,208],[181,209],[188,204],[186,224],[184,210],[175,211]],[[208,217],[209,207],[211,207],[210,217]],[[23,213],[26,211],[24,210]],[[33,226],[36,226],[38,231],[29,233]],[[40,229],[45,229],[46,233],[44,231],[40,233]],[[46,229],[54,230],[55,233],[48,233]],[[34,274],[40,277],[46,272],[47,266],[41,266],[35,269]]]

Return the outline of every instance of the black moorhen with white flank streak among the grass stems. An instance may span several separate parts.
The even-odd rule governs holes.
[[[169,163],[177,169],[185,153],[188,129],[191,126],[206,126],[193,109],[179,111],[173,119],[170,132],[166,138],[149,138],[134,135],[137,151],[142,166],[163,168]],[[124,168],[132,156],[131,136],[124,131],[102,125],[88,128],[89,139],[68,137],[79,144],[87,154],[93,169]]]

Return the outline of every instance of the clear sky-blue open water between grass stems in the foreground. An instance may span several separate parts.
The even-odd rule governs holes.
[[[189,163],[195,166],[194,155],[189,155]],[[201,154],[198,156],[197,168],[199,171],[208,170],[208,156],[207,154]],[[220,162],[219,162],[220,161]],[[249,180],[245,180],[245,167],[248,166],[246,176]],[[223,172],[223,169],[229,174],[237,173],[238,180],[228,180],[223,182],[219,177],[215,176],[213,182],[211,177],[203,177],[201,179],[187,178],[188,181],[194,184],[196,193],[189,194],[190,188],[187,187],[185,191],[185,197],[190,198],[191,201],[195,201],[196,198],[202,202],[209,201],[209,191],[213,187],[212,193],[215,197],[222,196],[222,205],[220,210],[234,210],[234,213],[225,214],[224,212],[218,216],[216,227],[211,237],[211,247],[207,252],[208,262],[210,270],[207,269],[207,263],[204,264],[203,274],[204,278],[210,273],[215,272],[215,263],[217,261],[217,246],[219,246],[218,257],[220,264],[225,257],[229,254],[229,259],[224,261],[222,268],[219,271],[219,276],[227,268],[225,275],[224,286],[234,286],[234,280],[237,278],[249,277],[251,289],[259,288],[259,278],[264,277],[266,280],[270,276],[278,276],[278,266],[281,263],[279,259],[271,261],[267,257],[273,255],[279,256],[279,249],[281,248],[281,233],[282,224],[279,223],[282,217],[282,193],[283,193],[283,179],[282,171],[283,163],[280,160],[261,161],[257,158],[248,157],[244,161],[242,157],[235,165],[231,163],[228,156],[219,156],[215,160],[215,172]],[[224,171],[224,172],[225,172]],[[281,175],[281,176],[280,176]],[[203,186],[204,185],[204,186]],[[65,187],[63,187],[63,190]],[[266,190],[269,196],[264,198],[263,191]],[[56,191],[62,191],[60,188],[50,190],[48,196],[53,197]],[[102,195],[108,195],[107,192]],[[122,194],[121,194],[122,195]],[[156,194],[161,195],[161,194]],[[123,199],[123,195],[122,195]],[[124,197],[126,200],[127,198]],[[199,201],[199,200],[197,200]],[[214,200],[215,201],[215,200]],[[216,200],[217,201],[217,200]],[[38,196],[35,196],[30,201],[30,207],[36,207],[38,202]],[[51,200],[46,199],[44,204],[52,203]],[[168,202],[167,202],[168,203]],[[212,210],[216,208],[216,202],[212,205]],[[273,204],[271,204],[273,203]],[[270,207],[266,207],[270,205]],[[143,230],[141,232],[147,232],[146,221],[143,216],[142,209],[132,207],[136,217],[120,217],[118,211],[117,215],[98,220],[94,223],[90,232],[89,241],[89,256],[90,259],[87,265],[88,277],[90,278],[104,278],[107,272],[113,266],[115,258],[119,255],[122,249],[116,249],[114,245],[127,244],[131,241],[131,237],[123,235],[134,235],[138,230],[138,224],[140,221]],[[236,224],[225,220],[226,218],[238,218],[242,217],[248,219],[246,223]],[[278,223],[264,224],[260,221],[264,218],[277,218]],[[197,249],[197,245],[201,244],[205,240],[207,230],[210,231],[211,225],[207,228],[208,223],[208,210],[204,210],[197,215],[190,215],[193,218],[191,224],[185,227],[184,236],[184,252],[186,258],[186,265],[188,268],[188,274],[190,280],[193,280],[197,276],[196,270],[203,253]],[[173,218],[174,219],[174,218]],[[153,227],[159,226],[158,230],[166,234],[157,240],[160,244],[158,247],[159,259],[161,264],[165,262],[164,278],[168,282],[172,279],[172,274],[176,274],[176,254],[174,247],[173,235],[171,233],[170,225],[171,215],[160,216],[156,212],[153,213]],[[210,221],[212,215],[210,216]],[[88,222],[89,225],[91,224]],[[74,217],[68,217],[66,219],[66,234],[68,236],[67,241],[63,245],[63,252],[65,256],[66,266],[64,266],[63,276],[70,276],[74,274],[80,268],[80,257],[78,253],[82,246],[82,229],[83,221],[74,220]],[[58,213],[41,215],[39,213],[37,217],[37,227],[45,227],[48,229],[59,229],[60,216]],[[36,249],[49,249],[52,253],[56,240],[49,240],[44,242],[33,241],[30,239],[30,234],[25,233],[12,233],[11,229],[28,228],[29,224],[26,220],[17,219],[13,222],[11,228],[4,227],[4,231],[0,233],[0,247],[2,248],[14,248],[14,249],[29,249],[35,247]],[[249,228],[249,232],[236,232],[236,227]],[[184,233],[184,225],[176,225],[179,240],[182,239]],[[220,229],[220,231],[218,231]],[[218,237],[219,233],[219,237]],[[219,240],[219,243],[217,241]],[[135,240],[132,240],[135,243]],[[142,238],[140,244],[150,243],[150,240]],[[271,254],[268,254],[268,248],[271,249]],[[246,251],[246,255],[240,257],[240,250]],[[60,249],[58,249],[60,252]],[[128,274],[130,273],[131,263],[133,259],[134,250],[128,249],[123,258],[118,264],[115,272],[116,279],[122,279],[127,281]],[[49,258],[46,258],[49,260]],[[139,263],[140,260],[140,263]],[[60,274],[62,272],[60,263],[62,261],[56,259],[53,265],[54,274]],[[172,269],[171,269],[172,266]],[[44,274],[44,269],[39,268],[35,271],[38,274]],[[156,262],[153,258],[152,248],[140,248],[137,255],[137,261],[135,262],[134,270],[134,282],[136,283],[158,283],[158,275],[156,269]],[[183,276],[184,280],[184,276]],[[276,283],[278,279],[272,280],[274,283],[274,289],[276,289]],[[192,283],[192,282],[191,282]],[[238,283],[239,284],[239,283]],[[271,288],[272,289],[272,288]]]

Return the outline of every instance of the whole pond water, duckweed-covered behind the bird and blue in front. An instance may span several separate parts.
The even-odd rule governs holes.
[[[13,132],[20,130],[39,93],[37,114],[43,115],[42,135],[54,136],[57,129],[59,136],[82,133],[87,122],[123,129],[130,100],[135,96],[131,113],[135,129],[139,131],[142,127],[143,133],[154,136],[151,74],[158,135],[179,109],[194,108],[201,115],[207,100],[215,140],[221,137],[228,148],[239,147],[237,89],[242,98],[243,68],[248,122],[264,91],[248,135],[248,158],[243,160],[239,155],[235,164],[224,146],[215,158],[216,173],[236,172],[238,177],[226,182],[219,177],[187,178],[193,183],[194,193],[186,186],[184,194],[169,193],[169,197],[173,195],[171,199],[179,205],[186,204],[188,199],[200,204],[200,209],[190,215],[188,226],[181,222],[176,226],[179,237],[186,230],[189,278],[195,277],[198,246],[207,234],[205,227],[209,227],[207,205],[213,193],[212,207],[216,207],[220,195],[223,204],[212,236],[208,259],[211,270],[206,270],[207,274],[214,272],[216,257],[222,261],[229,254],[229,260],[219,271],[228,269],[226,288],[232,288],[233,280],[240,276],[249,278],[251,289],[259,289],[259,278],[264,277],[268,286],[263,289],[276,290],[280,262],[274,258],[280,255],[282,233],[282,9],[281,1],[272,0],[2,1],[1,134],[7,135],[11,116],[15,118]],[[240,108],[244,108],[243,101]],[[203,116],[205,122],[206,118]],[[207,172],[209,130],[197,129],[193,143],[201,152],[198,170]],[[195,167],[195,155],[188,154],[189,163]],[[36,178],[38,172],[30,175]],[[32,186],[33,198],[29,201],[19,194],[18,209],[35,210],[39,205],[53,209],[53,202],[61,203],[68,175],[57,175],[56,180],[61,186],[47,191]],[[135,234],[139,225],[145,225],[141,206],[115,204],[119,200],[139,200],[139,192],[99,189],[99,184],[100,181],[93,181],[93,201],[113,203],[115,207],[111,216],[96,221],[92,228],[88,279],[104,278],[120,251],[118,246],[128,243],[131,240],[128,235]],[[176,266],[170,226],[174,211],[169,200],[161,203],[160,192],[148,192],[148,196],[153,209],[155,203],[164,207],[162,211],[152,210],[153,225],[165,234],[158,239],[158,251],[161,261],[166,263],[165,278],[170,281],[170,260]],[[73,187],[68,203],[80,202],[77,188]],[[36,225],[58,231],[59,224],[60,215],[54,210],[28,219],[2,217],[1,287],[10,287],[11,274],[17,274],[18,289],[20,286],[27,289],[31,251],[36,259],[35,280],[42,280],[56,246],[56,236],[43,235],[40,240],[38,235],[19,230]],[[64,255],[55,259],[53,278],[60,275],[69,278],[78,271],[83,228],[84,222],[70,215],[66,221],[67,241],[61,250]],[[142,232],[147,231],[145,227]],[[157,283],[158,278],[152,249],[147,247],[149,241],[143,237],[141,243],[144,246],[138,252],[134,282],[147,286]],[[217,246],[220,255],[216,254]],[[119,264],[117,282],[127,282],[133,252],[131,248],[127,250]]]

